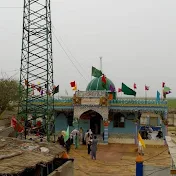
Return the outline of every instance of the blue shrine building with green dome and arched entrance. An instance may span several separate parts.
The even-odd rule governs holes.
[[[85,91],[76,91],[73,97],[55,100],[55,131],[83,128],[91,129],[104,143],[115,139],[120,143],[137,143],[137,134],[143,125],[160,127],[167,135],[167,101],[119,98],[114,83],[103,76],[94,78]],[[123,90],[133,91],[122,83]],[[125,94],[125,93],[124,93]],[[154,120],[151,117],[154,114]],[[164,144],[164,140],[160,141]]]

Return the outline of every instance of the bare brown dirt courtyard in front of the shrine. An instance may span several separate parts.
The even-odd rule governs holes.
[[[72,146],[69,156],[75,159],[75,176],[135,176],[135,145],[99,145],[97,160],[90,158],[86,146]],[[146,165],[169,166],[171,162],[166,146],[146,146],[143,159]]]

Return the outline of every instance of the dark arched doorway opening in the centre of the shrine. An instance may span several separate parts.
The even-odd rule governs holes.
[[[91,129],[93,134],[101,134],[102,119],[102,116],[93,110],[86,111],[80,116],[81,121],[89,121],[87,128]]]

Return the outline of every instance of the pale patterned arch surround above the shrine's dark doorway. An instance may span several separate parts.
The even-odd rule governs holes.
[[[80,116],[87,111],[95,111],[99,113],[103,120],[108,119],[108,107],[103,107],[103,106],[75,106],[74,107],[74,118],[79,119]]]

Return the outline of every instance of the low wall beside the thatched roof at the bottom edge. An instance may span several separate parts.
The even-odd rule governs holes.
[[[73,176],[73,175],[74,175],[74,163],[72,161],[67,161],[48,176]]]

